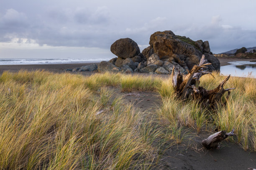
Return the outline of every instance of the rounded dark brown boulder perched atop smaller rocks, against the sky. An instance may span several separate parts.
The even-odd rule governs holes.
[[[121,38],[111,45],[110,51],[118,57],[126,59],[138,55],[140,48],[131,38]]]

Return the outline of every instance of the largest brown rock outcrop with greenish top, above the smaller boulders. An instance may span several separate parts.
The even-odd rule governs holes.
[[[171,62],[174,60],[183,68],[192,68],[195,65],[195,56],[199,61],[203,54],[207,55],[208,62],[212,63],[209,70],[219,70],[220,65],[217,57],[210,55],[210,45],[208,41],[193,41],[188,37],[175,35],[172,31],[155,32],[151,35],[149,47],[142,51],[148,59],[153,53],[156,53],[160,60]],[[210,55],[210,56],[209,56]]]

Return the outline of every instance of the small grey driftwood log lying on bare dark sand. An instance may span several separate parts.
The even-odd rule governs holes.
[[[235,136],[234,129],[230,133],[226,133],[225,130],[210,135],[207,139],[202,140],[202,145],[207,149],[214,149],[220,146],[220,142],[229,136]]]

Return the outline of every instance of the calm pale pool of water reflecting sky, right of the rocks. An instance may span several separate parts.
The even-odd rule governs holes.
[[[247,77],[248,75],[256,77],[256,62],[250,61],[232,61],[230,65],[220,67],[220,73],[238,77]]]

